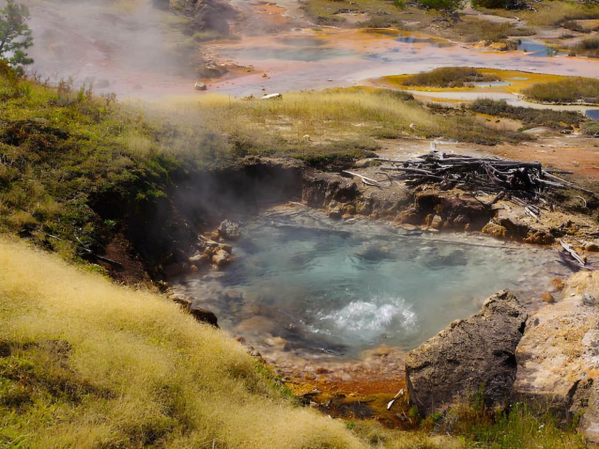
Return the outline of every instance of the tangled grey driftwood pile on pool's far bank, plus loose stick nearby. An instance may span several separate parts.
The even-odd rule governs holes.
[[[470,157],[433,150],[427,155],[407,160],[376,158],[382,162],[377,175],[384,178],[375,180],[364,175],[345,171],[349,175],[360,178],[364,184],[383,189],[384,182],[402,181],[409,187],[419,184],[435,184],[439,189],[449,190],[458,188],[472,194],[473,198],[481,194],[495,195],[490,202],[483,203],[492,206],[497,201],[506,198],[524,207],[524,212],[535,221],[540,221],[545,212],[552,210],[552,193],[559,189],[575,189],[585,194],[596,195],[559,178],[557,174],[572,173],[567,171],[545,170],[540,162],[518,162],[497,157]],[[586,207],[586,200],[582,196]],[[561,242],[561,257],[573,269],[588,269],[586,260],[572,246]]]

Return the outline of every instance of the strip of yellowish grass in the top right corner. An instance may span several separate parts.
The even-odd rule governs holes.
[[[577,19],[599,18],[599,6],[586,6],[576,1],[542,1],[535,3],[537,10],[518,11],[518,17],[528,25],[554,26]],[[513,17],[514,11],[504,9],[484,9],[483,12],[504,17]]]

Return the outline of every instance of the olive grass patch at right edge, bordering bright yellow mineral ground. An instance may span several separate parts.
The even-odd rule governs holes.
[[[599,80],[568,78],[550,83],[535,84],[522,93],[531,100],[555,103],[599,103]]]

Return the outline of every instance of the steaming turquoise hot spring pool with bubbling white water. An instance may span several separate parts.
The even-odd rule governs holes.
[[[541,246],[335,221],[307,207],[247,221],[233,250],[224,271],[189,274],[176,289],[263,354],[304,359],[412,349],[504,288],[534,309],[550,280],[566,274]]]

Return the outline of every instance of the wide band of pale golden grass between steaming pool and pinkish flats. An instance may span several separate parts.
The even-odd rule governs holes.
[[[235,100],[205,95],[199,102],[173,100],[167,116],[190,132],[201,123],[233,145],[236,154],[290,155],[299,159],[376,150],[379,139],[445,136],[460,141],[495,143],[513,139],[492,134],[468,116],[446,116],[412,96],[373,88],[286,93],[276,100]],[[191,121],[189,121],[191,120]],[[416,125],[411,129],[410,124]],[[190,139],[182,139],[188,142]],[[193,141],[193,139],[191,139]],[[185,153],[185,148],[175,148]]]

